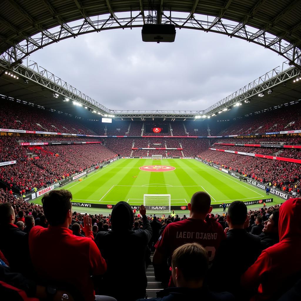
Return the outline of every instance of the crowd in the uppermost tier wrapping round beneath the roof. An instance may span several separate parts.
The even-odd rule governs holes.
[[[74,119],[72,116],[46,110],[37,105],[23,102],[5,101],[0,112],[0,127],[5,129],[36,130],[45,132],[63,132],[88,135],[127,135],[141,136],[171,136],[169,122],[167,133],[146,133],[146,125],[156,124],[157,121],[113,120],[113,123],[101,123],[100,120],[89,121]],[[211,136],[250,134],[259,132],[290,131],[301,128],[301,104],[283,106],[262,113],[229,120],[225,123],[210,120],[173,121],[171,122],[174,136]],[[216,117],[217,118],[217,117]],[[163,123],[162,123],[163,124]],[[186,129],[186,131],[185,131]]]

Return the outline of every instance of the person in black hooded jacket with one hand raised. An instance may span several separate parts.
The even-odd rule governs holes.
[[[95,238],[107,262],[107,272],[101,283],[97,284],[100,290],[96,293],[112,296],[118,301],[131,301],[145,296],[145,250],[152,237],[152,230],[147,217],[142,216],[142,219],[143,230],[132,231],[134,215],[131,206],[126,202],[114,206],[112,231],[99,232]]]

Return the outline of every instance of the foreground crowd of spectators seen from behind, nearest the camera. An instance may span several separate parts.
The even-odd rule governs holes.
[[[42,207],[10,196],[0,200],[3,300],[16,299],[16,293],[20,298],[22,292],[22,300],[142,301],[151,263],[156,281],[165,287],[151,301],[300,296],[298,198],[249,211],[244,202],[234,201],[213,214],[210,196],[196,192],[189,217],[182,218],[174,212],[149,215],[143,205],[133,210],[126,202],[117,203],[108,216],[77,213],[65,190],[45,194]],[[226,276],[221,273],[225,259]]]

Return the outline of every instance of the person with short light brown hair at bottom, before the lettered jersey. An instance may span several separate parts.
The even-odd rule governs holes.
[[[175,287],[161,290],[158,298],[150,301],[206,300],[230,301],[230,293],[213,293],[204,285],[208,271],[208,254],[204,247],[197,243],[184,244],[172,254],[172,279]],[[143,301],[139,299],[137,301]]]

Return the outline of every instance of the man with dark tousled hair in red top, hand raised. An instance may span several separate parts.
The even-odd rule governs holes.
[[[84,217],[81,226],[86,237],[77,237],[68,229],[72,221],[69,191],[49,192],[42,198],[48,228],[35,226],[29,233],[29,251],[36,274],[47,283],[76,287],[85,301],[110,300],[94,296],[91,275],[101,275],[107,265],[93,241],[92,219]],[[80,266],[80,273],[72,271],[72,262]]]

